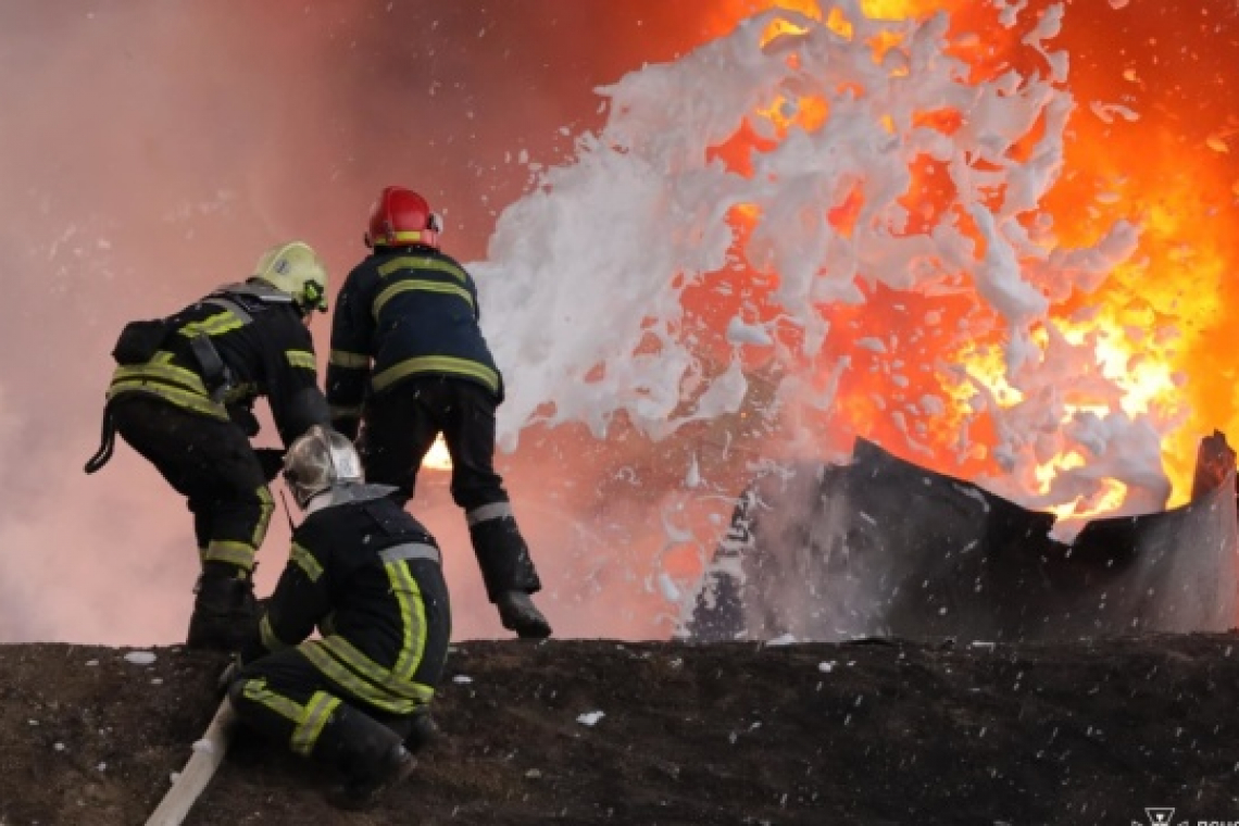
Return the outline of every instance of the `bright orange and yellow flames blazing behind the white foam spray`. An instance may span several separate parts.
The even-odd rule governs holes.
[[[719,35],[730,31],[747,14],[773,9],[824,22],[844,38],[851,38],[855,31],[839,7],[830,6],[823,16],[814,0],[717,5],[724,6],[714,11],[712,26]],[[992,17],[984,17],[986,11],[979,10],[976,4],[871,0],[859,5],[869,17],[883,20],[904,20],[939,10],[953,12],[959,32],[953,48],[975,58],[971,66],[978,78],[986,73],[996,77],[1012,64],[1043,59],[1038,54],[1018,54],[1018,27],[996,26]],[[1033,0],[1012,9],[1027,12],[1025,20],[1028,20],[1047,5],[1044,0]],[[1229,220],[1234,222],[1234,198],[1239,193],[1239,173],[1232,161],[1234,154],[1229,151],[1230,142],[1239,135],[1239,114],[1208,109],[1197,113],[1203,123],[1189,130],[1198,133],[1197,142],[1186,146],[1183,133],[1188,124],[1183,118],[1191,107],[1183,102],[1197,100],[1198,95],[1183,95],[1182,100],[1155,97],[1144,78],[1165,78],[1157,54],[1142,57],[1124,52],[1118,66],[1105,59],[1092,63],[1077,59],[1079,53],[1113,50],[1105,32],[1119,19],[1106,17],[1116,14],[1110,5],[1098,4],[1090,10],[1079,9],[1078,4],[1072,6],[1067,20],[1073,25],[1059,36],[1067,42],[1056,43],[1056,48],[1066,48],[1072,54],[1068,88],[1077,98],[1067,145],[1069,172],[1042,204],[1053,219],[1052,227],[1032,229],[1035,234],[1043,234],[1047,244],[1084,246],[1097,243],[1106,227],[1129,220],[1140,229],[1139,251],[1129,261],[1109,269],[1092,295],[1054,295],[1047,318],[1031,331],[1031,338],[1040,348],[1069,352],[1079,376],[1097,379],[1074,383],[1075,389],[1064,394],[1056,407],[1057,422],[1042,422],[1047,430],[1084,422],[1089,416],[1125,414],[1147,419],[1163,433],[1162,464],[1172,490],[1166,504],[1175,505],[1189,495],[1201,436],[1214,428],[1239,433],[1235,411],[1239,394],[1230,389],[1229,380],[1214,378],[1233,375],[1230,362],[1239,347],[1239,320],[1230,317],[1230,305],[1225,301],[1234,289],[1225,282],[1225,274],[1239,259],[1235,249],[1239,232],[1223,225],[1225,213],[1230,213]],[[1141,22],[1156,31],[1156,26],[1171,17],[1173,15],[1151,15]],[[966,35],[973,25],[984,26],[985,36]],[[1178,28],[1189,30],[1191,25],[1183,15]],[[767,25],[762,45],[773,48],[781,38],[795,38],[805,31],[794,16],[777,19]],[[1157,42],[1156,36],[1150,35],[1150,45]],[[869,43],[878,64],[897,45],[898,37],[893,35]],[[1161,50],[1162,59],[1170,53],[1167,50]],[[1175,51],[1186,50],[1175,47]],[[1198,52],[1191,52],[1191,57],[1202,66],[1184,68],[1191,77],[1184,76],[1182,82],[1224,85],[1217,82],[1217,77],[1222,77],[1224,54],[1220,45],[1198,40]],[[795,68],[794,54],[788,59]],[[1212,77],[1211,67],[1218,67]],[[904,71],[892,66],[891,77]],[[1219,95],[1228,93],[1225,88],[1218,89]],[[768,149],[794,130],[814,133],[830,114],[828,102],[821,98],[779,89],[753,109],[740,133],[715,146],[711,154],[729,168],[752,175],[752,151]],[[895,131],[890,118],[882,123],[887,131]],[[942,110],[921,113],[917,125],[949,136],[961,124],[958,113]],[[1036,151],[1036,140],[1037,135],[1032,135],[1012,155],[1026,160]],[[912,175],[914,186],[909,192],[933,192],[943,183],[942,170],[932,161],[918,165]],[[918,220],[932,225],[938,211],[949,201],[947,194],[907,198],[909,232],[916,232]],[[862,208],[862,186],[856,186],[844,206],[830,211],[825,219],[846,235]],[[730,220],[736,230],[737,248],[743,246],[760,217],[755,204],[732,208]],[[778,310],[769,301],[779,289],[778,272],[720,275],[726,290],[709,293],[686,290],[685,307],[707,321],[737,316],[746,323],[766,324],[777,331],[781,343],[789,350],[802,343],[803,332],[781,327]],[[1038,274],[1031,277],[1036,281]],[[1047,295],[1054,293],[1052,284],[1040,286]],[[994,452],[995,425],[990,421],[992,417],[985,415],[983,401],[1010,411],[1026,399],[1007,375],[1004,359],[1007,342],[999,326],[984,320],[978,322],[974,307],[952,297],[950,289],[937,296],[911,296],[866,285],[859,285],[859,290],[864,303],[821,307],[829,322],[821,352],[833,354],[835,362],[840,357],[847,362],[846,369],[821,373],[814,379],[819,389],[835,388],[834,422],[887,447],[913,452],[919,463],[933,469],[969,478],[1001,473],[1001,457]],[[911,359],[901,360],[898,353],[881,352],[883,337],[912,318],[937,322],[933,328],[917,331],[922,339],[918,350],[924,354],[921,365],[909,363]],[[965,323],[974,328],[964,337],[965,343],[959,344],[959,337],[948,331]],[[717,344],[721,352],[724,344]],[[768,357],[746,352],[746,369],[760,370],[764,358]],[[928,369],[922,369],[924,364]],[[1188,381],[1188,376],[1193,380]],[[897,399],[912,400],[912,404],[901,405]],[[922,415],[907,416],[903,409]],[[829,435],[820,441],[819,447],[828,447]],[[1093,457],[1078,445],[1046,438],[1043,445],[1038,442],[1037,461],[1028,478],[1018,482],[1033,499],[1048,499],[1064,471],[1085,468],[1092,461]],[[1129,495],[1127,485],[1116,479],[1098,482],[1088,494],[1074,498],[1068,494],[1067,502],[1048,505],[1048,509],[1062,518],[1080,520],[1120,509]]]

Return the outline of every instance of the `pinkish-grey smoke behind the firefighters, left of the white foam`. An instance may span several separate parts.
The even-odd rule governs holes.
[[[479,258],[530,165],[593,124],[592,87],[699,36],[693,4],[492,5],[0,7],[0,641],[182,639],[197,568],[183,502],[123,443],[82,473],[126,321],[243,277],[289,238],[342,280],[389,183],[424,192],[445,249]],[[600,30],[615,42],[585,36]],[[259,441],[275,440],[268,425]],[[415,509],[447,547],[457,634],[501,634],[444,484],[427,478]],[[509,479],[518,510],[523,487]],[[536,534],[536,506],[528,519]],[[286,536],[276,514],[260,589]],[[554,585],[554,557],[539,561]]]

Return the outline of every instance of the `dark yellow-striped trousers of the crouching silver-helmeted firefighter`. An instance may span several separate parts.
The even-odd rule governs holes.
[[[364,774],[396,743],[415,741],[430,711],[424,706],[396,716],[358,703],[296,648],[250,663],[228,696],[237,716],[264,739],[346,774]]]

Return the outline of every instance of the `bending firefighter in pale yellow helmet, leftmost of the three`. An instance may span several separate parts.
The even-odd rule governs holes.
[[[128,324],[104,407],[108,462],[115,433],[144,456],[193,514],[201,576],[187,644],[235,651],[255,622],[253,572],[281,451],[255,451],[264,395],[284,445],[328,421],[309,321],[327,308],[327,270],[302,241],[274,246],[254,275],[181,312]]]

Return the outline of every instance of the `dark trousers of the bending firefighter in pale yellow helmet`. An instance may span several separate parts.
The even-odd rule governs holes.
[[[253,571],[274,505],[242,428],[138,393],[113,399],[112,416],[120,437],[188,500],[203,565]]]

